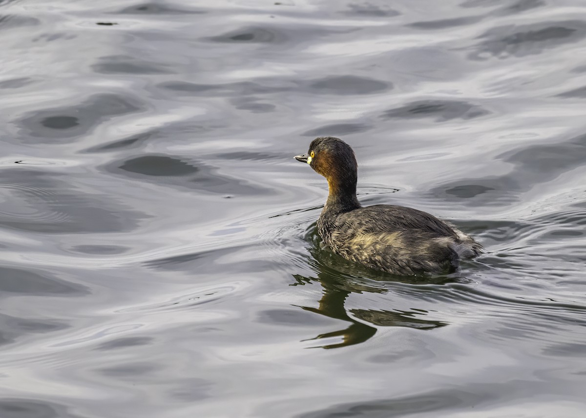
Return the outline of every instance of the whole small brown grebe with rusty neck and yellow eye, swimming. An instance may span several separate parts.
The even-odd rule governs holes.
[[[475,239],[426,212],[360,205],[356,157],[339,138],[316,138],[308,153],[295,159],[328,180],[328,200],[317,230],[323,243],[343,258],[394,275],[417,275],[454,270],[462,259],[483,250]]]

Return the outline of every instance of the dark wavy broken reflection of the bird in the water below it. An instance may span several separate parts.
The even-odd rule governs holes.
[[[309,248],[312,255],[309,263],[317,273],[317,277],[294,275],[296,282],[292,286],[306,283],[321,283],[323,294],[318,307],[300,306],[302,309],[318,313],[330,318],[347,321],[350,325],[338,331],[320,334],[311,340],[342,337],[337,344],[316,345],[321,348],[338,348],[347,345],[360,344],[376,334],[377,327],[410,327],[420,330],[431,330],[444,327],[448,323],[442,321],[424,320],[414,316],[410,311],[350,309],[346,310],[345,301],[350,293],[386,293],[389,290],[383,282],[402,282],[420,285],[442,285],[460,281],[453,276],[393,276],[363,268],[356,263],[346,261],[332,253],[328,248],[321,248],[318,238],[309,237],[313,244]],[[381,286],[377,286],[380,282]],[[417,314],[425,314],[425,310],[417,310]],[[372,324],[372,325],[370,325]]]

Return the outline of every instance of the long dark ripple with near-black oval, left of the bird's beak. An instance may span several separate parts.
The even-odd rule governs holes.
[[[204,163],[185,160],[165,154],[150,154],[111,163],[106,169],[115,174],[124,174],[142,181],[167,186],[205,190],[211,193],[241,195],[269,193],[246,184],[241,179],[217,174],[216,169]]]

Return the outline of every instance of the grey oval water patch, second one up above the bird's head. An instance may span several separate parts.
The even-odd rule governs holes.
[[[325,77],[309,84],[312,92],[339,95],[374,94],[392,88],[393,83],[356,76]]]

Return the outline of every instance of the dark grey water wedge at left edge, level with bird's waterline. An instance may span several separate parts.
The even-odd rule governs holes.
[[[0,267],[0,292],[34,295],[81,296],[88,294],[86,286],[57,279],[48,273],[36,273],[9,267]]]

